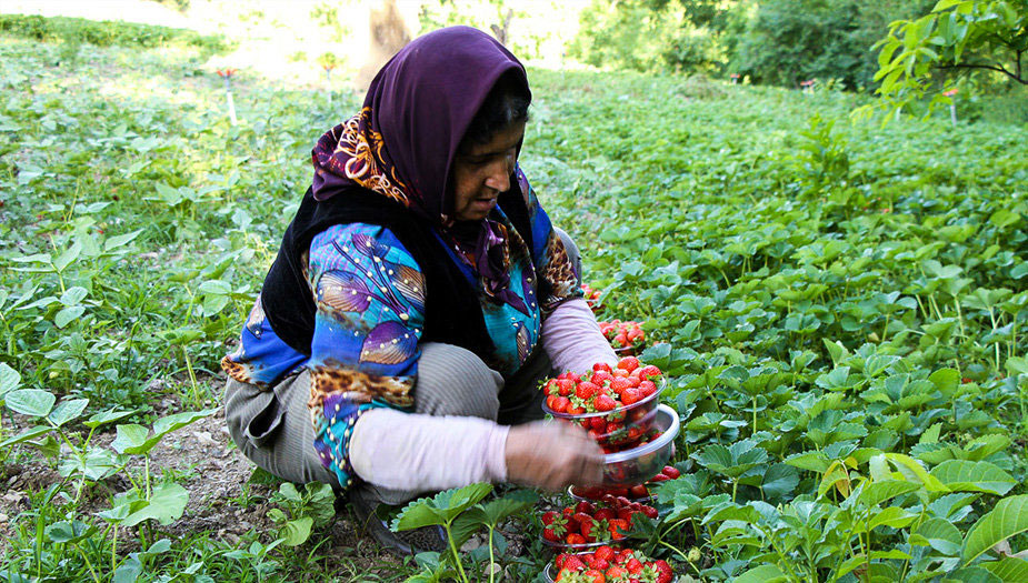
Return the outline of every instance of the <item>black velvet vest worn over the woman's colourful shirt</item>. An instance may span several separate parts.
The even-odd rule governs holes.
[[[512,183],[515,188],[501,194],[498,202],[533,250],[528,209],[517,182]],[[495,346],[486,329],[478,291],[442,247],[433,227],[402,204],[362,188],[346,189],[321,202],[307,189],[261,288],[261,303],[275,333],[292,349],[310,355],[317,306],[303,277],[305,253],[321,231],[356,222],[389,229],[418,263],[426,290],[421,341],[456,344],[487,364],[492,362]],[[539,265],[539,258],[532,255],[533,263]]]

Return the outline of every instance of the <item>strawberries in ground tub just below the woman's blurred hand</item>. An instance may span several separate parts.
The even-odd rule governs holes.
[[[607,496],[596,503],[582,500],[560,512],[551,510],[542,514],[542,537],[570,546],[620,541],[631,530],[632,516],[637,513],[657,519],[657,509],[623,496]]]

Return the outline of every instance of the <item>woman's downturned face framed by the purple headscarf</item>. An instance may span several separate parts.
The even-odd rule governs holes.
[[[501,192],[510,190],[510,174],[518,160],[525,122],[518,121],[472,145],[453,161],[453,211],[458,221],[480,221],[496,207]]]

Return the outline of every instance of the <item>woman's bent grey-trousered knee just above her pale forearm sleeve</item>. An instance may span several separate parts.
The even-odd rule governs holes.
[[[438,342],[421,346],[415,410],[428,415],[496,420],[503,376],[473,352]]]

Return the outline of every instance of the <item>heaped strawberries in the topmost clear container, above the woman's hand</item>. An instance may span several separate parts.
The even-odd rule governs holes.
[[[636,448],[653,435],[648,434],[647,415],[653,406],[632,408],[657,393],[660,369],[643,366],[639,359],[625,356],[616,368],[600,362],[592,372],[579,375],[565,372],[543,384],[548,412],[581,424],[607,453]],[[656,403],[653,403],[656,406]],[[591,413],[605,413],[593,415]]]

